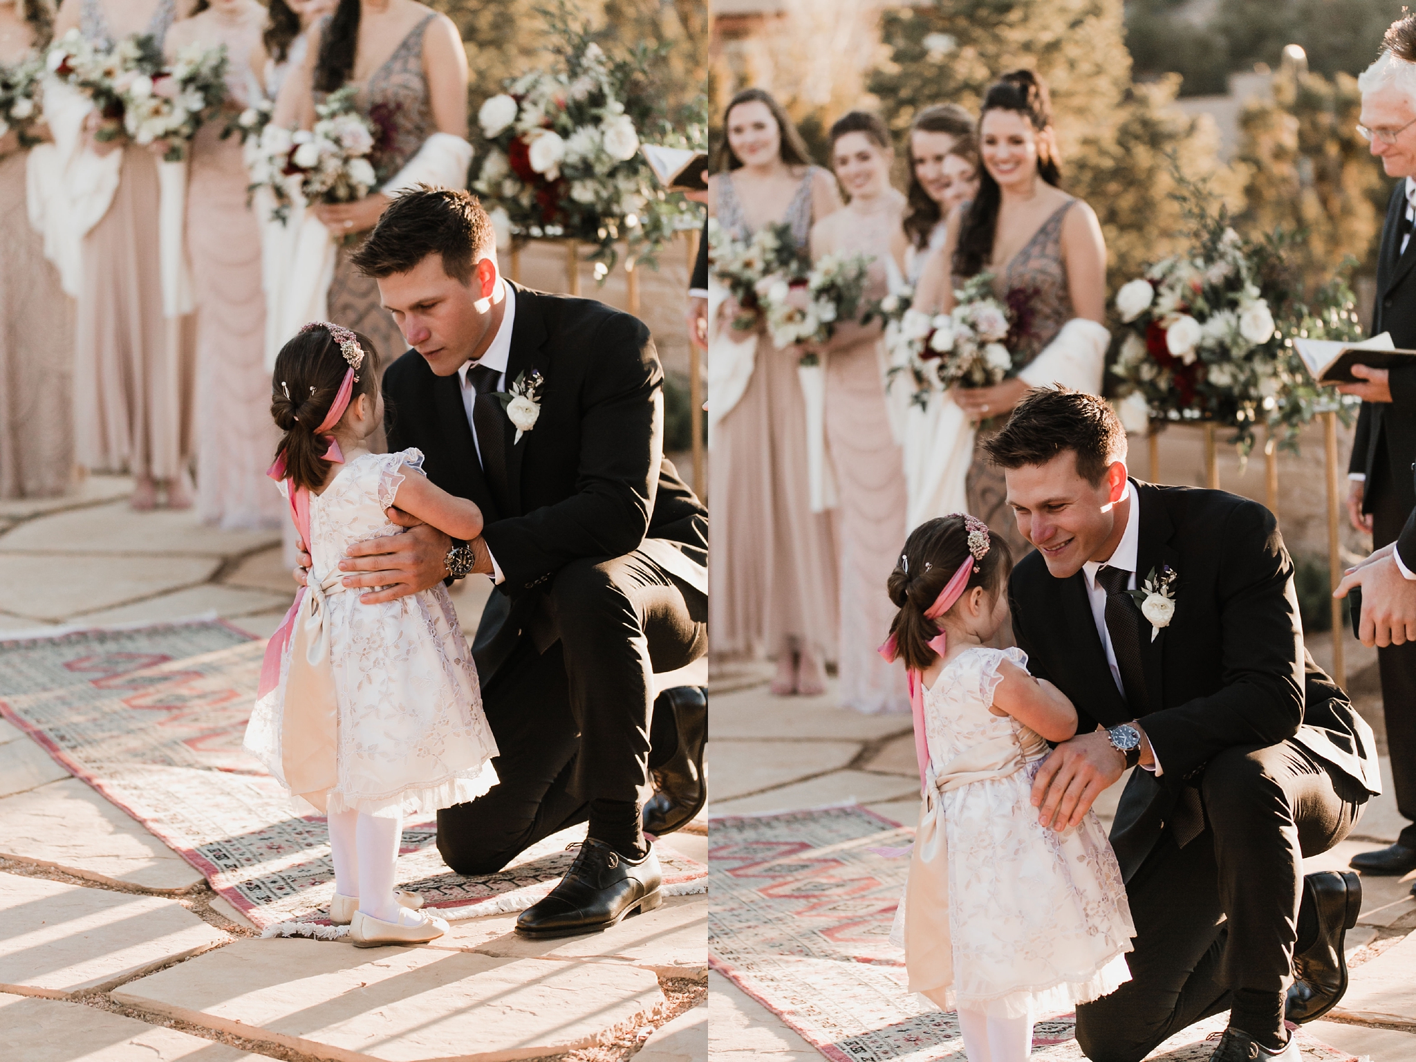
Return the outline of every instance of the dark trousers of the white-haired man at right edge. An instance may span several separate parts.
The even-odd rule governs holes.
[[[1372,470],[1374,479],[1402,474],[1391,469],[1385,449],[1383,443]],[[1405,474],[1410,479],[1412,473],[1408,470]],[[1402,498],[1408,491],[1396,490],[1395,483],[1382,486],[1385,490],[1375,493],[1372,504],[1372,547],[1376,549],[1395,542],[1410,515],[1410,510],[1402,511]],[[1378,649],[1376,667],[1382,675],[1382,715],[1386,719],[1396,809],[1416,823],[1416,641]],[[1416,848],[1416,826],[1408,824],[1399,840]]]

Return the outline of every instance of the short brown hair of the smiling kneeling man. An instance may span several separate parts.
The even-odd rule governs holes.
[[[1004,469],[1046,464],[1076,453],[1076,472],[1093,487],[1112,462],[1126,460],[1126,429],[1104,398],[1065,387],[1038,387],[1022,396],[1008,423],[983,445]]]

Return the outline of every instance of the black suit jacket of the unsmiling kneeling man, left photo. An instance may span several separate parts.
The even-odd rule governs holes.
[[[504,579],[473,640],[483,681],[523,633],[542,651],[555,640],[545,590],[571,561],[622,556],[657,538],[691,565],[708,562],[708,510],[663,456],[664,372],[649,329],[593,299],[513,286],[507,385],[532,371],[545,385],[521,442],[504,421],[504,497],[483,476],[457,375],[433,375],[416,350],[384,374],[389,450],[421,449],[428,477],[486,517]]]

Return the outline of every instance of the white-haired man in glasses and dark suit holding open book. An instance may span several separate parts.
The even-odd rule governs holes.
[[[1376,259],[1376,303],[1372,334],[1392,334],[1399,348],[1416,348],[1416,18],[1406,16],[1386,33],[1386,50],[1358,79],[1362,112],[1358,130],[1382,160],[1388,177],[1396,177],[1382,225]],[[1405,57],[1405,58],[1403,58]],[[1372,535],[1381,551],[1396,541],[1416,510],[1412,463],[1416,462],[1416,367],[1352,368],[1368,382],[1338,389],[1362,398],[1352,439],[1348,476],[1352,480],[1348,511],[1354,527]],[[1416,578],[1416,551],[1408,551],[1400,569]],[[1389,566],[1398,566],[1395,556]],[[1371,575],[1371,573],[1369,573]],[[1365,596],[1365,595],[1364,595]],[[1408,824],[1396,843],[1361,852],[1352,867],[1364,874],[1406,874],[1416,869],[1416,641],[1396,632],[1376,640],[1382,677],[1382,709],[1386,748],[1392,763],[1396,807]]]

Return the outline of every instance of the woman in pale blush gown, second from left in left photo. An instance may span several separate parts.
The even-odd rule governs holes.
[[[68,0],[54,33],[78,27],[108,47],[135,33],[159,47],[193,0]],[[78,463],[130,472],[130,504],[187,508],[191,462],[191,321],[163,314],[157,245],[157,157],[125,136],[98,140],[91,115],[84,150],[122,152],[118,188],[102,219],[84,236],[75,324],[74,419]]]

